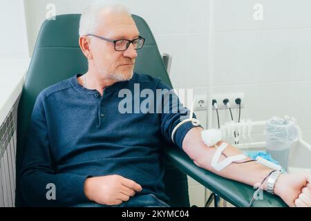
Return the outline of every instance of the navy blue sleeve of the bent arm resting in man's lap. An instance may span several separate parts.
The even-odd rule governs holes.
[[[21,168],[21,192],[30,206],[70,206],[88,202],[84,182],[88,176],[55,173],[50,154],[44,98],[39,95],[32,111]]]

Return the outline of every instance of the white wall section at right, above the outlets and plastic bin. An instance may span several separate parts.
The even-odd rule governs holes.
[[[254,20],[256,3],[262,21]],[[243,118],[291,115],[309,143],[310,8],[308,0],[217,0],[214,64],[215,93],[245,93]]]

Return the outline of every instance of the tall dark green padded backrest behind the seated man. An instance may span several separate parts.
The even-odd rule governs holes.
[[[80,15],[59,15],[55,20],[45,21],[39,32],[17,112],[16,206],[26,206],[19,186],[19,171],[23,161],[28,124],[37,95],[44,88],[68,79],[76,73],[86,73],[87,61],[78,43],[79,19]],[[133,15],[133,19],[140,34],[146,38],[144,48],[138,50],[135,72],[160,77],[171,86],[149,26],[141,17]],[[187,176],[169,162],[165,162],[164,182],[171,206],[189,206]]]

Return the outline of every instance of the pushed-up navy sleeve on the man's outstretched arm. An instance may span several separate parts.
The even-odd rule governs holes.
[[[195,126],[191,122],[182,124],[178,127],[173,141],[171,140],[171,134],[177,124],[189,118],[190,111],[183,106],[173,89],[164,84],[160,79],[157,90],[159,89],[162,91],[162,102],[157,104],[157,108],[160,110],[161,115],[161,133],[168,142],[174,142],[179,148],[182,148],[182,141],[191,128]],[[156,94],[158,96],[160,93],[157,92]],[[196,115],[194,115],[194,118],[196,118]]]

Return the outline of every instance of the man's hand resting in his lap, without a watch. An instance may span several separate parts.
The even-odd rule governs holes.
[[[140,184],[120,175],[89,177],[84,183],[86,198],[98,204],[121,204],[140,191],[142,191]]]

